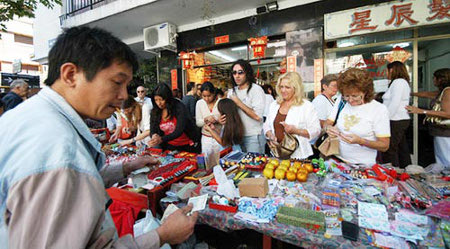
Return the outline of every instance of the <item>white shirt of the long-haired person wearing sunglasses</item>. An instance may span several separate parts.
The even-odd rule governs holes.
[[[249,108],[253,109],[253,111],[259,116],[263,117],[266,97],[264,96],[264,90],[253,84],[250,91],[247,93],[248,88],[239,90],[238,87],[234,88],[236,90],[237,97]],[[234,94],[233,89],[228,91],[228,98],[230,98]],[[244,124],[244,136],[255,136],[261,134],[261,129],[263,122],[258,122],[252,118],[250,118],[244,111],[238,108],[239,116],[242,119],[242,123]]]

